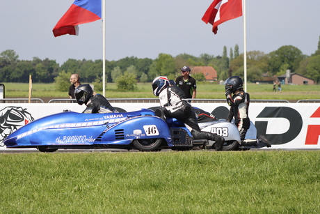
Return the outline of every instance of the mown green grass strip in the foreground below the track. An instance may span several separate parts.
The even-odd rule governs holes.
[[[320,151],[0,154],[0,213],[319,213]]]

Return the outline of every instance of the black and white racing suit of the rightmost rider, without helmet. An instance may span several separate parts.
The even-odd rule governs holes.
[[[236,91],[234,95],[225,93],[227,104],[230,105],[230,111],[227,116],[227,121],[232,121],[237,125],[241,141],[246,137],[247,130],[250,128],[250,119],[248,116],[250,95],[243,90]]]

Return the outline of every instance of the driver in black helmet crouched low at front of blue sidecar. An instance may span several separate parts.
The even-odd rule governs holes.
[[[99,93],[94,94],[89,84],[79,85],[74,90],[74,96],[79,105],[83,105],[84,103],[87,106],[82,113],[118,113],[103,95]]]

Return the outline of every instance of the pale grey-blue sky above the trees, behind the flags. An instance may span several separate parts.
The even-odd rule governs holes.
[[[106,60],[127,56],[157,59],[160,53],[223,54],[239,45],[243,17],[224,22],[218,33],[201,18],[213,0],[106,0]],[[54,37],[52,29],[74,0],[1,1],[0,53],[20,60],[102,59],[102,21],[79,25],[79,36]],[[313,54],[320,36],[319,0],[246,0],[246,49],[265,54],[293,45]]]

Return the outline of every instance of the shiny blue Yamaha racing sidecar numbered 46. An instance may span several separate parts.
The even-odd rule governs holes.
[[[192,148],[193,139],[185,127],[169,128],[150,109],[112,114],[63,112],[45,116],[19,128],[5,140],[8,148]]]

